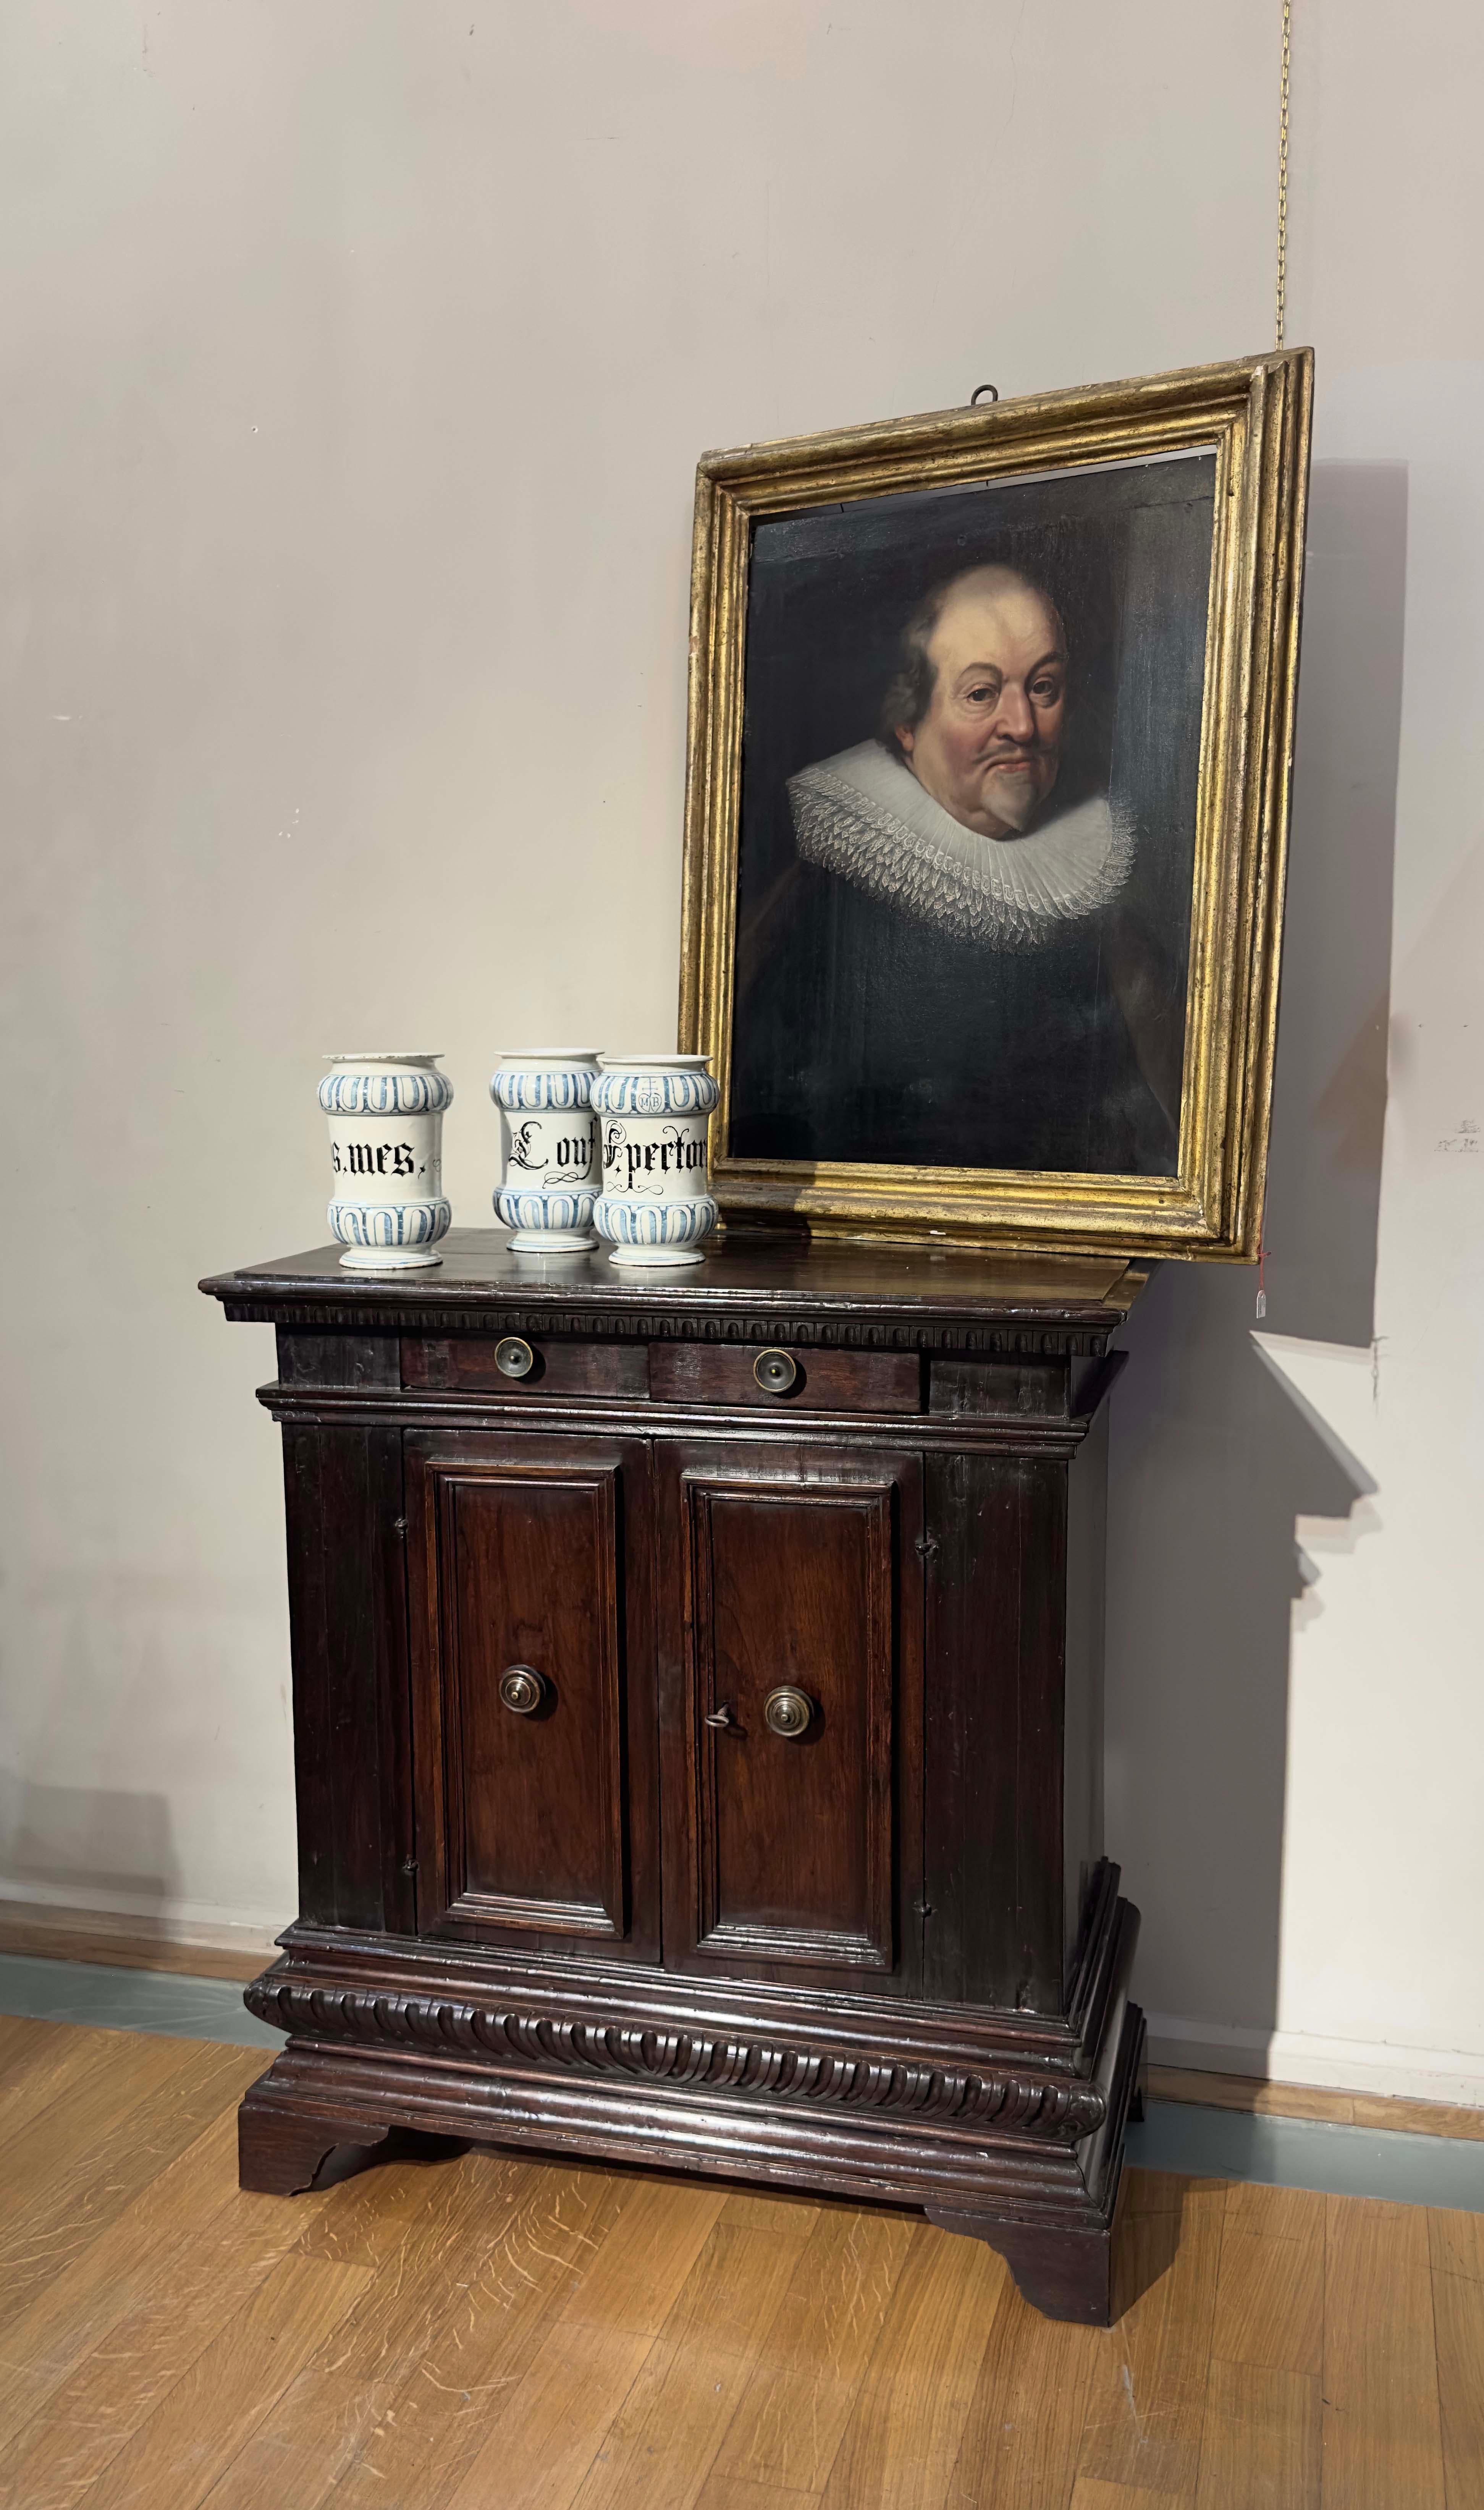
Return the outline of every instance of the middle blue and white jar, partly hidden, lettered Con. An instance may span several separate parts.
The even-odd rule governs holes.
[[[495,1210],[515,1230],[512,1255],[580,1255],[598,1245],[595,1079],[595,1047],[525,1047],[495,1067],[490,1097],[505,1152]]]

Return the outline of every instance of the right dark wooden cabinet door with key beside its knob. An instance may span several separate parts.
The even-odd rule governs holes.
[[[708,1446],[660,1476],[665,1963],[901,1993],[922,1943],[919,1461]]]

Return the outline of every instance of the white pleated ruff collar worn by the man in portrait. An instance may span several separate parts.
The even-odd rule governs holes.
[[[952,818],[879,740],[788,778],[806,863],[901,914],[994,949],[1037,949],[1107,906],[1132,868],[1132,823],[1095,793],[1030,836],[989,838]]]

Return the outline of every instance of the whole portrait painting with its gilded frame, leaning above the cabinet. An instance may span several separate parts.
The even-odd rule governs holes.
[[[1291,351],[701,462],[723,1212],[1255,1252],[1308,402]]]

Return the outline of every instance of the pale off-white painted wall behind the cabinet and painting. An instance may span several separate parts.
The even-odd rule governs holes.
[[[1271,339],[1273,5],[0,18],[0,1888],[291,1910],[276,1438],[201,1273],[319,1054],[673,1034],[696,452]],[[1484,2101],[1476,13],[1301,0],[1321,361],[1248,1273],[1115,1413],[1110,1845],[1170,2051]]]

